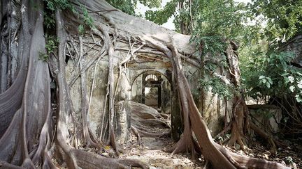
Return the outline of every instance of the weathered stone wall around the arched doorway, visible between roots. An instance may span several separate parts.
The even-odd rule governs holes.
[[[116,49],[122,49],[128,47],[127,44],[120,42],[116,44]],[[106,88],[108,83],[108,55],[100,58],[98,56],[100,49],[91,48],[89,46],[84,47],[84,51],[87,51],[87,54],[83,56],[84,65],[94,61],[86,72],[86,81],[87,81],[87,97],[89,100],[89,127],[92,129],[92,132],[99,136],[101,134],[101,129],[105,127],[106,124],[106,115],[108,115],[108,100],[106,101]],[[171,95],[171,104],[168,104],[165,100],[168,98],[166,95],[162,95],[161,99],[164,101],[163,105],[164,113],[171,112],[171,126],[173,132],[173,138],[177,140],[180,136],[180,131],[182,131],[182,120],[178,100],[177,86],[173,85],[173,72],[171,63],[168,58],[163,56],[151,56],[149,54],[137,54],[134,61],[131,58],[131,61],[128,61],[122,65],[123,70],[120,71],[119,65],[124,58],[127,57],[127,52],[121,50],[115,50],[114,54],[114,77],[115,77],[115,127],[117,140],[120,143],[128,140],[128,136],[131,131],[131,106],[129,104],[130,100],[140,101],[141,100],[141,86],[137,85],[141,83],[143,79],[140,78],[140,75],[144,72],[157,72],[162,74],[166,78],[166,81],[163,81],[161,84],[163,91],[166,95]],[[199,68],[190,65],[189,63],[182,63],[183,70],[185,71],[186,77],[189,81],[189,85],[192,90],[197,90],[199,86],[199,77],[200,71]],[[95,68],[96,66],[96,68]],[[78,61],[73,61],[69,59],[66,66],[66,80],[68,83],[71,83],[74,75],[79,71]],[[93,92],[92,83],[94,83]],[[136,84],[134,84],[136,83]],[[75,113],[78,114],[77,118],[80,118],[81,111],[81,88],[80,88],[80,77],[78,77],[73,84],[70,85],[71,88],[71,98],[73,102],[73,108]],[[200,91],[199,91],[200,92]],[[198,94],[202,95],[202,93]],[[213,136],[217,134],[220,129],[222,129],[222,122],[224,115],[224,103],[213,96],[210,92],[203,94],[202,97],[197,97],[196,105],[202,110],[202,106],[206,107],[202,113],[203,117],[208,122],[208,126]],[[106,104],[105,104],[106,102]],[[204,105],[203,105],[203,104]],[[170,106],[170,108],[168,108]],[[230,106],[231,107],[231,106]],[[105,115],[105,118],[103,118]]]

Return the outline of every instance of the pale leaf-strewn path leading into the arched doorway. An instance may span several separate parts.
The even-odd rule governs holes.
[[[192,161],[190,154],[171,156],[171,153],[165,152],[172,147],[173,140],[168,135],[163,138],[158,136],[170,130],[170,115],[159,113],[155,108],[136,102],[131,102],[131,115],[132,127],[153,134],[154,137],[141,137],[143,146],[139,146],[136,135],[132,134],[129,143],[122,147],[125,153],[120,156],[121,159],[138,159],[148,163],[150,168],[201,168],[203,163],[201,159]],[[147,123],[145,120],[160,122],[154,124],[154,121]]]

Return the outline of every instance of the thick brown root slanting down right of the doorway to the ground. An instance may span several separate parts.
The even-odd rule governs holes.
[[[178,92],[180,95],[180,101],[182,103],[183,116],[184,118],[186,118],[186,116],[189,117],[189,121],[184,120],[185,125],[186,123],[188,124],[188,122],[190,122],[189,126],[192,127],[192,131],[194,132],[199,142],[201,153],[203,154],[205,159],[208,159],[208,161],[210,161],[211,165],[214,168],[247,168],[248,166],[250,166],[247,161],[238,162],[231,159],[231,156],[226,153],[227,150],[224,151],[224,148],[215,143],[213,138],[210,136],[210,131],[208,131],[208,128],[206,127],[206,122],[204,122],[198,108],[194,103],[194,99],[189,88],[189,83],[187,82],[184,72],[182,72],[181,70],[180,57],[177,49],[175,48],[175,45],[173,45],[173,42],[171,42],[171,44],[168,44],[167,47],[159,42],[154,43],[154,41],[152,40],[148,40],[148,42],[154,45],[154,48],[163,51],[166,56],[171,58],[173,71],[175,72],[175,79],[178,82]],[[184,131],[184,134],[186,134],[186,131]],[[192,138],[189,137],[189,139]],[[239,163],[240,165],[238,165]],[[259,166],[263,166],[264,168],[270,168],[271,166],[287,168],[285,166],[282,166],[282,164],[275,162],[265,161],[265,163],[266,165],[262,165],[262,162],[254,161],[254,166],[255,168],[259,168]]]

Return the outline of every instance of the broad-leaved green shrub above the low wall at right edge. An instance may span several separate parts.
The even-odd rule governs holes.
[[[294,96],[302,102],[302,73],[290,64],[294,54],[271,53],[253,58],[244,67],[243,79],[250,96]]]

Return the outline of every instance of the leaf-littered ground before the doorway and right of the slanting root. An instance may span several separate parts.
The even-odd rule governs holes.
[[[203,158],[192,160],[190,154],[174,154],[165,152],[168,147],[172,147],[173,141],[171,138],[142,138],[143,147],[136,143],[136,136],[131,137],[131,141],[123,148],[125,154],[121,154],[121,159],[138,159],[150,165],[150,168],[202,168],[204,165]],[[296,145],[302,146],[302,145]],[[242,154],[245,156],[266,159],[269,161],[278,161],[292,168],[302,168],[302,152],[299,148],[287,147],[279,148],[277,154],[271,154],[268,147],[261,143],[252,143],[250,152],[245,153],[236,148],[227,147],[230,151]],[[297,151],[296,151],[297,150]]]

